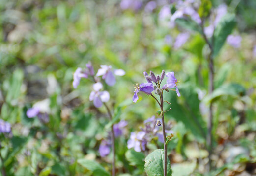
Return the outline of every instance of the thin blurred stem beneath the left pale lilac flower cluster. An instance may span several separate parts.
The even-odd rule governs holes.
[[[108,114],[109,114],[109,120],[112,121],[112,115],[110,112],[109,107],[104,102],[104,106],[106,107]],[[114,146],[114,130],[113,130],[113,124],[111,125],[111,148],[112,148],[112,176],[115,176],[115,146]]]

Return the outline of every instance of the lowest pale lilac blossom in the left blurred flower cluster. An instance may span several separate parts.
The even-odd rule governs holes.
[[[100,82],[93,84],[92,87],[94,91],[90,93],[89,100],[93,101],[93,104],[96,108],[99,108],[102,106],[102,102],[109,101],[110,94],[108,91],[99,91],[101,88],[103,88]]]

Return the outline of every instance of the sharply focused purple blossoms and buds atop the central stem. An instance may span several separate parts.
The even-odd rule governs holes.
[[[144,92],[147,95],[152,95],[152,91],[155,91],[156,94],[160,94],[161,92],[163,92],[163,90],[168,91],[168,89],[170,88],[176,88],[176,93],[177,96],[180,96],[179,93],[179,89],[177,88],[178,85],[178,81],[174,76],[174,72],[169,72],[166,74],[166,77],[168,77],[166,84],[160,88],[160,85],[165,77],[165,70],[162,71],[161,76],[155,76],[155,74],[150,71],[150,76],[147,74],[147,72],[143,72],[147,83],[142,83],[142,84],[136,84],[136,86],[134,86],[135,90],[134,90],[134,95],[133,95],[133,102],[136,103],[138,98],[138,93],[139,92]],[[153,83],[155,83],[156,85],[154,86]]]

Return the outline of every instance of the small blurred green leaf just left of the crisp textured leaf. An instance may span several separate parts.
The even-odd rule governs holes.
[[[139,169],[144,169],[145,155],[142,152],[128,150],[125,153],[125,157],[129,161],[130,165],[137,166]]]

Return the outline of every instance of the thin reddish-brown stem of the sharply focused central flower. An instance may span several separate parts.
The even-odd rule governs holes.
[[[164,136],[164,151],[165,151],[165,159],[164,159],[164,176],[167,176],[167,145],[166,145],[166,133],[165,133],[165,118],[164,118],[164,100],[163,100],[163,92],[160,95],[161,100],[161,111],[162,111],[162,125],[163,125],[163,136]]]

